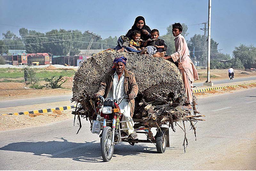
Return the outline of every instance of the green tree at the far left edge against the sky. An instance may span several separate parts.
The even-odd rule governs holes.
[[[21,38],[17,37],[14,33],[10,30],[3,33],[3,42],[5,45],[15,45],[15,46],[7,46],[7,49],[25,49]]]

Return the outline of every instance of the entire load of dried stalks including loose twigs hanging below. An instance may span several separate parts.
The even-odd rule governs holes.
[[[185,93],[179,69],[163,58],[137,53],[104,51],[84,61],[73,81],[71,101],[79,104],[75,113],[89,119],[92,124],[96,119],[93,94],[98,92],[100,82],[111,70],[113,60],[121,56],[127,58],[125,68],[134,73],[139,87],[133,118],[152,120],[159,125],[169,123],[173,131],[174,122],[187,120],[195,131],[192,122],[201,120],[198,117],[204,115],[191,115],[189,110],[182,108]],[[196,108],[194,112],[197,113]]]

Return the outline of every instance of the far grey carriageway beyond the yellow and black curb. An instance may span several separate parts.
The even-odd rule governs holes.
[[[213,84],[223,84],[228,82],[241,82],[248,80],[256,80],[256,77],[250,78],[239,78],[235,80],[219,80],[214,81]],[[194,83],[194,86],[199,87],[203,86],[203,82]],[[24,106],[24,105],[35,105],[35,104],[43,104],[43,103],[52,103],[52,102],[62,102],[69,101],[72,98],[72,95],[64,95],[64,96],[54,96],[54,97],[38,97],[38,98],[29,98],[29,99],[18,99],[18,100],[5,100],[0,101],[0,108],[6,107],[15,107],[15,106]]]

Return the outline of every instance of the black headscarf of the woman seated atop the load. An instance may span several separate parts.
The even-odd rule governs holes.
[[[140,20],[144,21],[144,25],[143,25],[143,27],[141,29],[137,27],[137,22],[140,21]],[[134,30],[138,30],[138,31],[147,30],[148,33],[151,32],[151,29],[146,25],[145,19],[142,16],[136,17],[132,28],[130,30],[128,30],[128,32],[127,32],[127,34],[125,36],[128,37],[131,40],[132,39],[132,32]],[[150,35],[144,35],[144,34],[141,33],[140,38],[142,40],[147,40],[148,38],[151,38],[151,36]]]

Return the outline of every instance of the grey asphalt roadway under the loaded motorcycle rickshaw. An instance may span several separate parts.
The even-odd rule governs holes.
[[[170,132],[171,147],[156,153],[150,143],[120,143],[110,162],[103,162],[100,138],[82,120],[0,132],[0,170],[255,170],[256,89],[213,95],[198,100],[206,121],[197,126],[197,140],[187,127]],[[14,123],[15,124],[15,123]],[[143,135],[145,136],[145,135]]]

